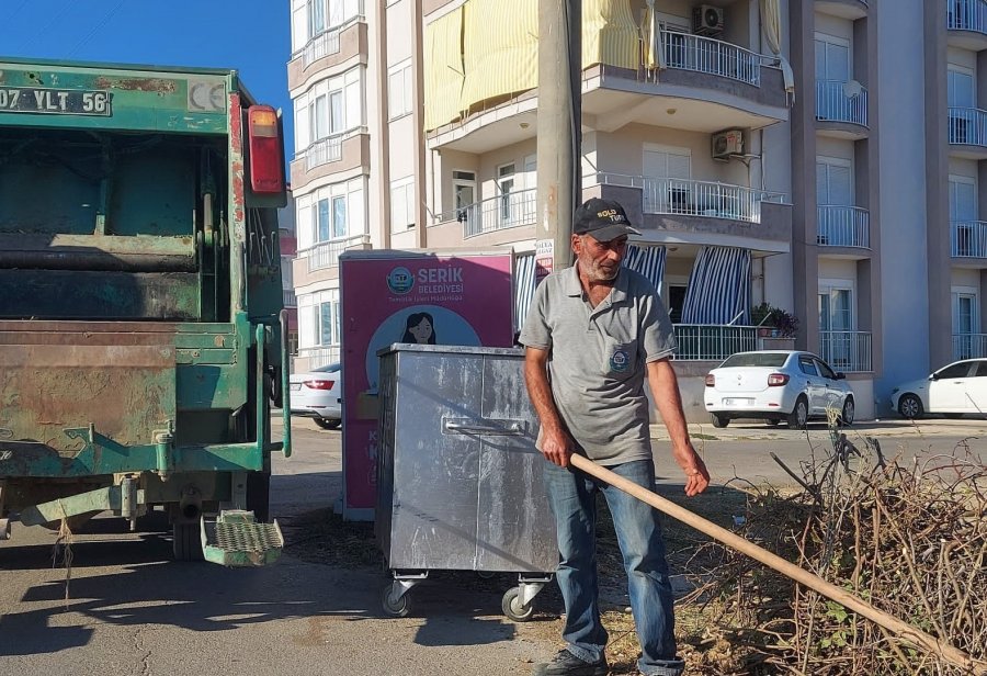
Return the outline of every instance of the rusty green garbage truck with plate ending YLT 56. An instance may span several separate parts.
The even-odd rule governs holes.
[[[236,70],[0,57],[0,539],[154,510],[179,560],[276,557],[285,204]]]

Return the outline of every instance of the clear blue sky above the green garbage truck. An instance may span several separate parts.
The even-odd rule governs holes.
[[[287,91],[288,0],[0,0],[4,56],[156,66],[235,68],[259,103],[282,109]]]

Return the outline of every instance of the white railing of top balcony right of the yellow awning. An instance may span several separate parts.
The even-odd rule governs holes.
[[[750,49],[676,31],[661,31],[661,46],[669,68],[707,72],[761,86],[762,57]]]

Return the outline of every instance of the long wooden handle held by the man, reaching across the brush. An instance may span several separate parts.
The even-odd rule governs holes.
[[[934,655],[939,655],[950,664],[966,669],[967,672],[977,676],[987,676],[987,663],[974,660],[965,652],[953,646],[952,644],[940,641],[935,636],[928,634],[924,631],[912,627],[911,624],[903,622],[898,618],[888,615],[883,610],[874,608],[874,606],[870,605],[860,597],[853,596],[852,594],[847,593],[836,585],[826,582],[818,575],[810,573],[805,568],[795,565],[794,563],[785,561],[778,554],[772,554],[768,550],[741,538],[737,533],[730,532],[725,528],[721,528],[716,523],[713,523],[712,521],[708,521],[701,516],[689,511],[684,507],[679,507],[671,500],[661,497],[653,491],[648,491],[647,488],[638,486],[637,484],[627,481],[619,474],[614,474],[610,470],[597,464],[588,458],[574,453],[569,458],[569,462],[571,462],[575,467],[582,470],[587,474],[595,476],[600,481],[606,482],[612,486],[616,486],[624,493],[627,493],[636,497],[637,499],[647,503],[655,509],[663,511],[668,516],[682,521],[687,526],[691,526],[692,528],[710,536],[714,540],[718,540],[727,547],[735,549],[742,554],[747,554],[751,559],[760,561],[768,567],[774,568],[779,573],[791,577],[795,582],[801,583],[810,589],[815,589],[822,596],[835,600],[841,606],[850,608],[854,612],[862,615],[869,620],[876,622],[881,627],[884,627],[888,631],[894,632],[901,639],[909,641],[915,645],[919,645]]]

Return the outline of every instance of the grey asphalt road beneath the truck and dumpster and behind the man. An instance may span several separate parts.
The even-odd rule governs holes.
[[[718,484],[792,483],[770,452],[797,471],[832,449],[818,424],[690,429]],[[293,431],[295,453],[275,460],[272,482],[272,510],[284,522],[331,507],[341,491],[340,432],[307,420]],[[659,481],[673,487],[681,476],[665,430],[653,435]],[[865,437],[908,462],[967,449],[980,463],[987,455],[983,420],[896,420],[848,432],[860,448]],[[716,499],[715,492],[694,499]],[[13,539],[0,543],[0,676],[529,674],[557,650],[554,615],[514,624],[499,612],[502,589],[429,581],[413,593],[415,616],[390,619],[379,611],[382,571],[287,554],[258,570],[175,563],[162,528],[129,533],[115,519],[92,521],[71,548],[66,600],[66,571],[52,564],[55,533],[14,525]]]

